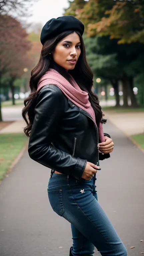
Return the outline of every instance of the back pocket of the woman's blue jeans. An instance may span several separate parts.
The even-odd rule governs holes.
[[[53,211],[56,212],[59,216],[62,216],[65,211],[63,205],[62,190],[51,190],[48,188],[47,191],[49,202]]]

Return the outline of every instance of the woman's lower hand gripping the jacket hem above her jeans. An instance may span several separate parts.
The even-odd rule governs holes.
[[[87,162],[82,174],[82,178],[85,180],[90,180],[94,173],[97,173],[97,170],[101,170],[101,168],[93,163]]]

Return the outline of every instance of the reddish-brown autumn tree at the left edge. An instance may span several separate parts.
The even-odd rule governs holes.
[[[17,78],[26,81],[28,72],[24,75],[24,71],[33,62],[30,54],[32,44],[18,19],[29,16],[28,10],[35,1],[37,0],[0,0],[0,93],[1,87],[9,86],[13,104],[14,82]]]

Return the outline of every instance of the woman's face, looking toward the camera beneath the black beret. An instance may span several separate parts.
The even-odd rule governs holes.
[[[66,70],[74,69],[80,52],[80,37],[74,32],[57,44],[53,52],[53,59]]]

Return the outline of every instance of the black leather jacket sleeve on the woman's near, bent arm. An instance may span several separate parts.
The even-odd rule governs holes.
[[[59,132],[59,122],[64,114],[64,107],[64,96],[58,87],[52,89],[47,86],[41,90],[34,111],[35,118],[28,153],[36,162],[80,179],[87,160],[75,158],[52,145],[53,136]]]

